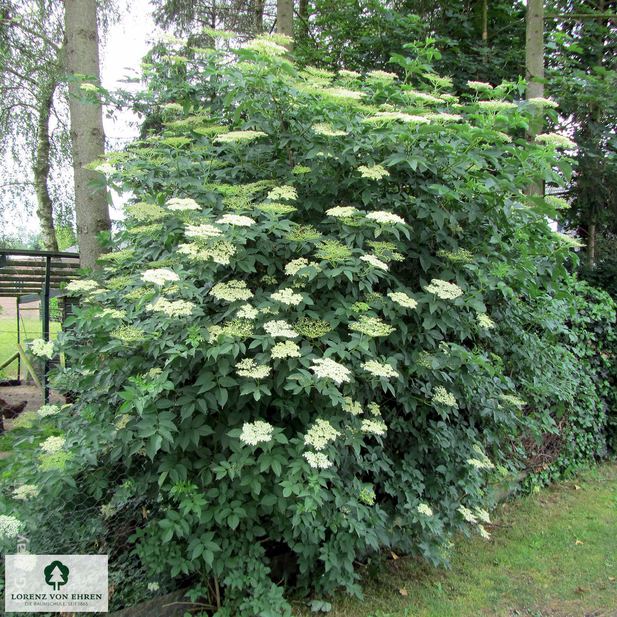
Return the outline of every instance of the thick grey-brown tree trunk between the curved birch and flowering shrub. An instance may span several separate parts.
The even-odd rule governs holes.
[[[64,0],[64,36],[67,71],[71,75],[89,75],[100,81],[99,36],[94,0]],[[83,165],[105,153],[102,109],[100,105],[80,102],[81,94],[74,82],[69,83],[73,175],[75,178],[75,215],[77,243],[82,268],[95,268],[102,247],[96,236],[111,230],[106,191],[86,186],[97,180],[97,172]],[[77,98],[76,98],[77,97]]]

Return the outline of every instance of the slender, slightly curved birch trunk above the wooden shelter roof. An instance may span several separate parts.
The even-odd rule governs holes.
[[[50,92],[46,93],[39,102],[38,131],[36,135],[36,159],[34,164],[35,189],[38,209],[36,215],[41,223],[43,247],[46,251],[57,251],[58,242],[54,229],[54,212],[51,197],[49,196],[49,115],[54,100],[56,84],[52,84]]]

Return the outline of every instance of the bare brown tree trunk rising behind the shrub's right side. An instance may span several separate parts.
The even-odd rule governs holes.
[[[544,0],[527,0],[526,16],[526,41],[525,41],[525,80],[527,89],[526,99],[534,99],[544,96]],[[525,133],[527,141],[534,141],[536,135],[542,130],[544,112],[539,107],[536,117],[529,123]],[[544,193],[544,186],[531,184],[525,191],[527,195]]]

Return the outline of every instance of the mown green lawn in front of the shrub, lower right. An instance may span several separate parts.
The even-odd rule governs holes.
[[[617,617],[615,463],[505,502],[492,521],[490,542],[455,542],[451,570],[390,558],[363,573],[363,602],[337,595],[329,616]]]

